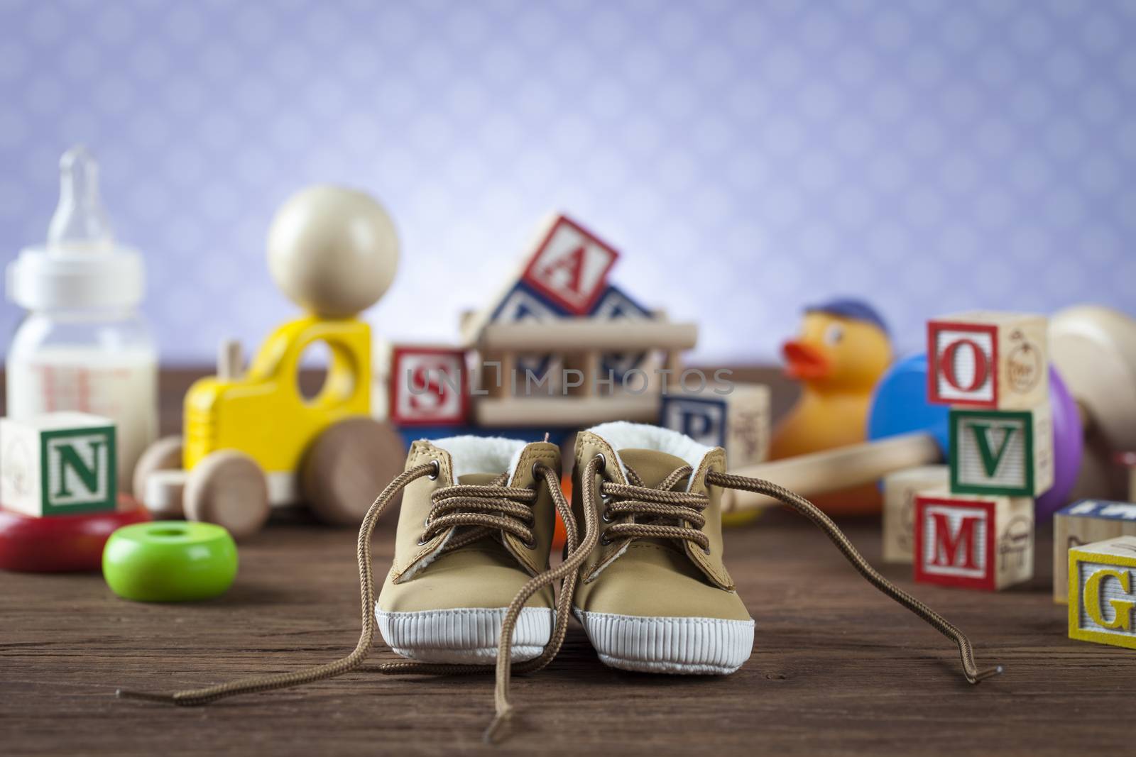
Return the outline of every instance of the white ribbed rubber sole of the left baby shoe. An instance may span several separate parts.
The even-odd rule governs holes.
[[[387,613],[375,606],[383,640],[408,659],[423,663],[485,664],[496,661],[504,607],[458,607]],[[538,657],[552,638],[556,611],[525,607],[517,617],[509,657],[523,663]]]

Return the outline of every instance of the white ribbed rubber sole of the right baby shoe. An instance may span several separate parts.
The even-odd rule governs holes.
[[[753,651],[753,620],[642,617],[573,608],[600,662],[640,673],[726,675]]]

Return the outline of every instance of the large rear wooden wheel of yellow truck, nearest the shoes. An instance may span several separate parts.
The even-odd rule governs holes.
[[[327,523],[359,525],[378,493],[402,472],[407,448],[387,422],[340,421],[319,435],[304,456],[300,487]]]

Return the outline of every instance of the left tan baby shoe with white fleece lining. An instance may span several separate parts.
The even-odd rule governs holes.
[[[391,649],[410,659],[492,664],[506,608],[549,566],[554,510],[534,465],[559,474],[560,451],[451,437],[416,441],[407,468],[434,461],[437,474],[412,481],[402,494],[394,564],[375,609],[378,629]],[[554,623],[549,586],[520,611],[511,659],[540,656]]]

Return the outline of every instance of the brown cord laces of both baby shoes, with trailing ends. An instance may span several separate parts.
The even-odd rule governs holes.
[[[494,705],[496,714],[485,730],[485,740],[496,741],[501,734],[502,726],[512,714],[512,706],[509,704],[510,674],[516,668],[518,673],[534,672],[548,665],[559,653],[563,642],[567,629],[568,614],[571,609],[571,598],[575,594],[576,581],[579,569],[584,560],[591,553],[599,539],[599,523],[596,518],[596,489],[603,497],[605,521],[619,520],[605,529],[607,541],[617,538],[674,538],[690,540],[698,544],[703,549],[709,547],[709,540],[702,533],[701,528],[705,523],[702,511],[705,510],[709,498],[707,495],[691,494],[687,491],[673,491],[671,489],[679,481],[691,476],[690,466],[679,468],[663,479],[658,487],[643,486],[640,477],[628,470],[630,483],[616,483],[603,480],[599,487],[592,486],[598,474],[604,473],[605,460],[602,455],[593,457],[584,469],[580,478],[586,481],[583,486],[582,497],[584,504],[584,538],[578,539],[578,529],[571,506],[565,499],[560,490],[556,471],[537,464],[534,472],[543,479],[552,496],[552,501],[563,519],[567,531],[567,548],[563,562],[558,566],[544,571],[533,577],[521,587],[520,591],[509,604],[504,617],[501,622],[501,636],[498,641],[496,655],[496,685],[494,689]],[[224,697],[239,693],[253,693],[282,689],[286,687],[300,685],[314,681],[329,679],[342,673],[356,670],[366,659],[370,651],[375,637],[375,580],[371,569],[370,540],[377,522],[391,497],[400,489],[423,476],[436,476],[437,463],[432,461],[423,465],[412,468],[399,474],[391,481],[382,494],[371,503],[359,528],[359,541],[357,556],[359,562],[359,588],[361,595],[361,624],[362,632],[359,642],[351,654],[335,662],[318,665],[292,673],[281,673],[277,675],[262,675],[222,683],[204,689],[193,689],[178,691],[172,695],[147,693],[140,691],[127,691],[119,689],[119,697],[145,699],[150,701],[170,703],[176,705],[203,705]],[[465,535],[456,541],[458,546],[469,544],[469,538],[476,529],[484,529],[477,538],[482,538],[493,530],[508,531],[518,538],[531,540],[532,513],[527,518],[519,507],[520,503],[535,499],[536,493],[533,489],[518,489],[504,487],[506,477],[501,477],[487,487],[474,487],[459,485],[438,489],[432,496],[433,507],[427,519],[426,535],[449,528],[450,525],[473,525],[469,535]],[[860,553],[852,546],[847,537],[836,527],[833,521],[825,515],[816,505],[808,499],[784,489],[776,483],[750,479],[728,473],[710,471],[707,474],[707,483],[711,486],[727,487],[763,494],[788,505],[793,510],[803,514],[817,527],[819,527],[828,538],[836,545],[841,553],[850,563],[877,589],[900,603],[912,613],[929,623],[937,631],[952,639],[959,647],[962,657],[962,667],[967,681],[978,683],[991,675],[1002,672],[1002,666],[995,666],[979,671],[975,664],[974,649],[969,639],[958,628],[947,622],[938,613],[930,609],[921,602],[907,594],[868,564]],[[474,501],[477,501],[476,503]],[[492,505],[488,503],[492,501]],[[459,504],[460,503],[460,504]],[[516,507],[515,507],[516,505]],[[504,513],[495,515],[494,513]],[[648,519],[648,522],[636,522],[638,518]],[[450,519],[450,520],[445,520]],[[483,520],[484,519],[484,520]],[[493,519],[493,520],[488,520]],[[673,525],[667,521],[676,521]],[[508,524],[507,524],[508,522]],[[433,529],[433,531],[431,530]],[[608,536],[608,535],[611,536]],[[446,545],[448,548],[457,548]],[[557,600],[557,621],[553,628],[552,638],[545,646],[540,657],[526,663],[511,664],[512,632],[517,624],[517,619],[525,603],[538,590],[549,586],[558,579],[563,579],[560,596]],[[415,662],[385,663],[378,667],[383,673],[437,673],[437,674],[462,674],[479,673],[490,670],[484,665],[450,665],[450,664],[424,664]]]

